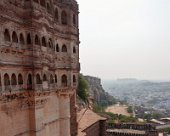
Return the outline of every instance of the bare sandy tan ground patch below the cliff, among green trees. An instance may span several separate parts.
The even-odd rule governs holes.
[[[130,116],[130,114],[127,112],[127,106],[125,105],[112,105],[112,106],[109,106],[107,109],[106,109],[106,112],[112,112],[114,114],[122,114],[122,115],[126,115],[126,116]]]

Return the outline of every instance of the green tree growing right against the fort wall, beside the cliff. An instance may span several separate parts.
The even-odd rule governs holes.
[[[89,85],[85,80],[82,74],[79,75],[79,87],[78,87],[78,95],[84,101],[87,102],[89,96]]]

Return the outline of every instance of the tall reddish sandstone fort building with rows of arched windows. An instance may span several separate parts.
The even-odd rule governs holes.
[[[76,136],[75,0],[0,0],[0,135]]]

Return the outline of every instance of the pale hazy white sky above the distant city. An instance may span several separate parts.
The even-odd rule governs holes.
[[[170,80],[170,0],[77,0],[81,72]]]

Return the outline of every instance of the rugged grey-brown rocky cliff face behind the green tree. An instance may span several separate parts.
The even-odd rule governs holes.
[[[84,78],[89,83],[89,94],[90,99],[93,99],[97,103],[108,104],[113,100],[113,97],[110,96],[101,85],[101,79],[92,76],[84,76]]]

